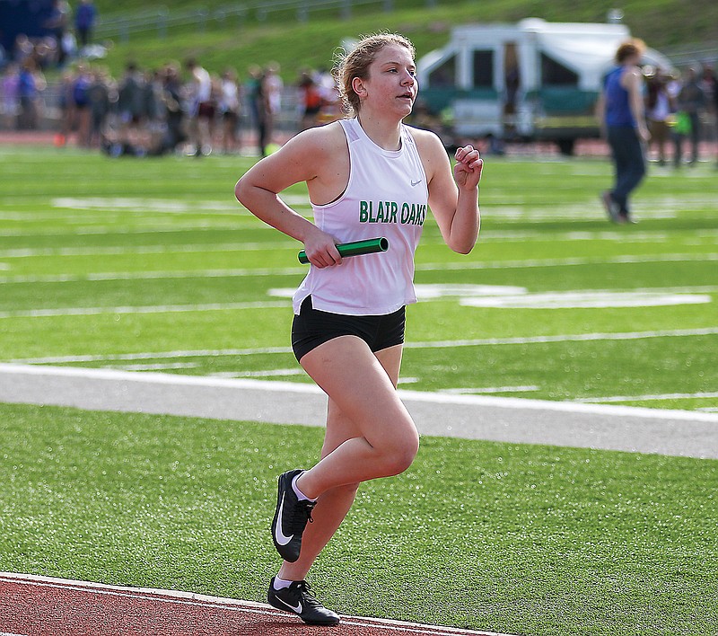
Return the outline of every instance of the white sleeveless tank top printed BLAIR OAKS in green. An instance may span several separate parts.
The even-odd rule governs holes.
[[[357,119],[340,120],[349,145],[349,181],[327,205],[312,204],[314,223],[339,243],[384,236],[389,250],[345,258],[341,265],[309,273],[293,296],[294,314],[311,295],[315,309],[332,314],[391,314],[416,303],[414,253],[427,213],[424,167],[408,127],[401,148],[383,150]]]

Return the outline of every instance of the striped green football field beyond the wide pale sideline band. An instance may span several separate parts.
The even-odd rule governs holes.
[[[251,161],[0,151],[0,359],[304,382],[301,245],[233,199]],[[425,227],[407,388],[718,408],[714,166],[653,170],[634,226],[604,217],[609,172],[487,158],[476,250]]]

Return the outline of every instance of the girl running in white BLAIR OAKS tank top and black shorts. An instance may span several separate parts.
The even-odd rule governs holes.
[[[473,249],[483,167],[478,151],[462,146],[452,172],[439,137],[403,123],[418,90],[409,40],[364,38],[337,79],[349,117],[302,131],[235,186],[241,204],[302,242],[311,263],[293,299],[292,340],[328,394],[327,428],[319,463],[279,477],[272,534],[284,562],[267,600],[312,624],[339,621],[304,579],[359,484],[402,473],[416,456],[416,426],[396,392],[405,306],[416,302],[414,252],[429,210],[451,250]],[[278,197],[301,181],[313,223]],[[376,236],[389,240],[387,252],[343,259],[337,251]]]

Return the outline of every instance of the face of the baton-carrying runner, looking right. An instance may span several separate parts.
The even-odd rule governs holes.
[[[369,77],[363,81],[363,87],[366,101],[406,117],[419,87],[416,66],[409,51],[395,44],[381,49],[369,66]]]

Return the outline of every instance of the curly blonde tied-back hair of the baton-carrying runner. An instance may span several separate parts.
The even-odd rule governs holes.
[[[357,115],[361,108],[359,95],[355,93],[352,81],[355,77],[366,79],[369,76],[369,66],[372,66],[381,49],[391,45],[406,48],[412,58],[416,56],[416,49],[411,41],[398,33],[368,35],[359,40],[350,52],[339,51],[332,74],[337,82],[339,96],[347,116]]]

